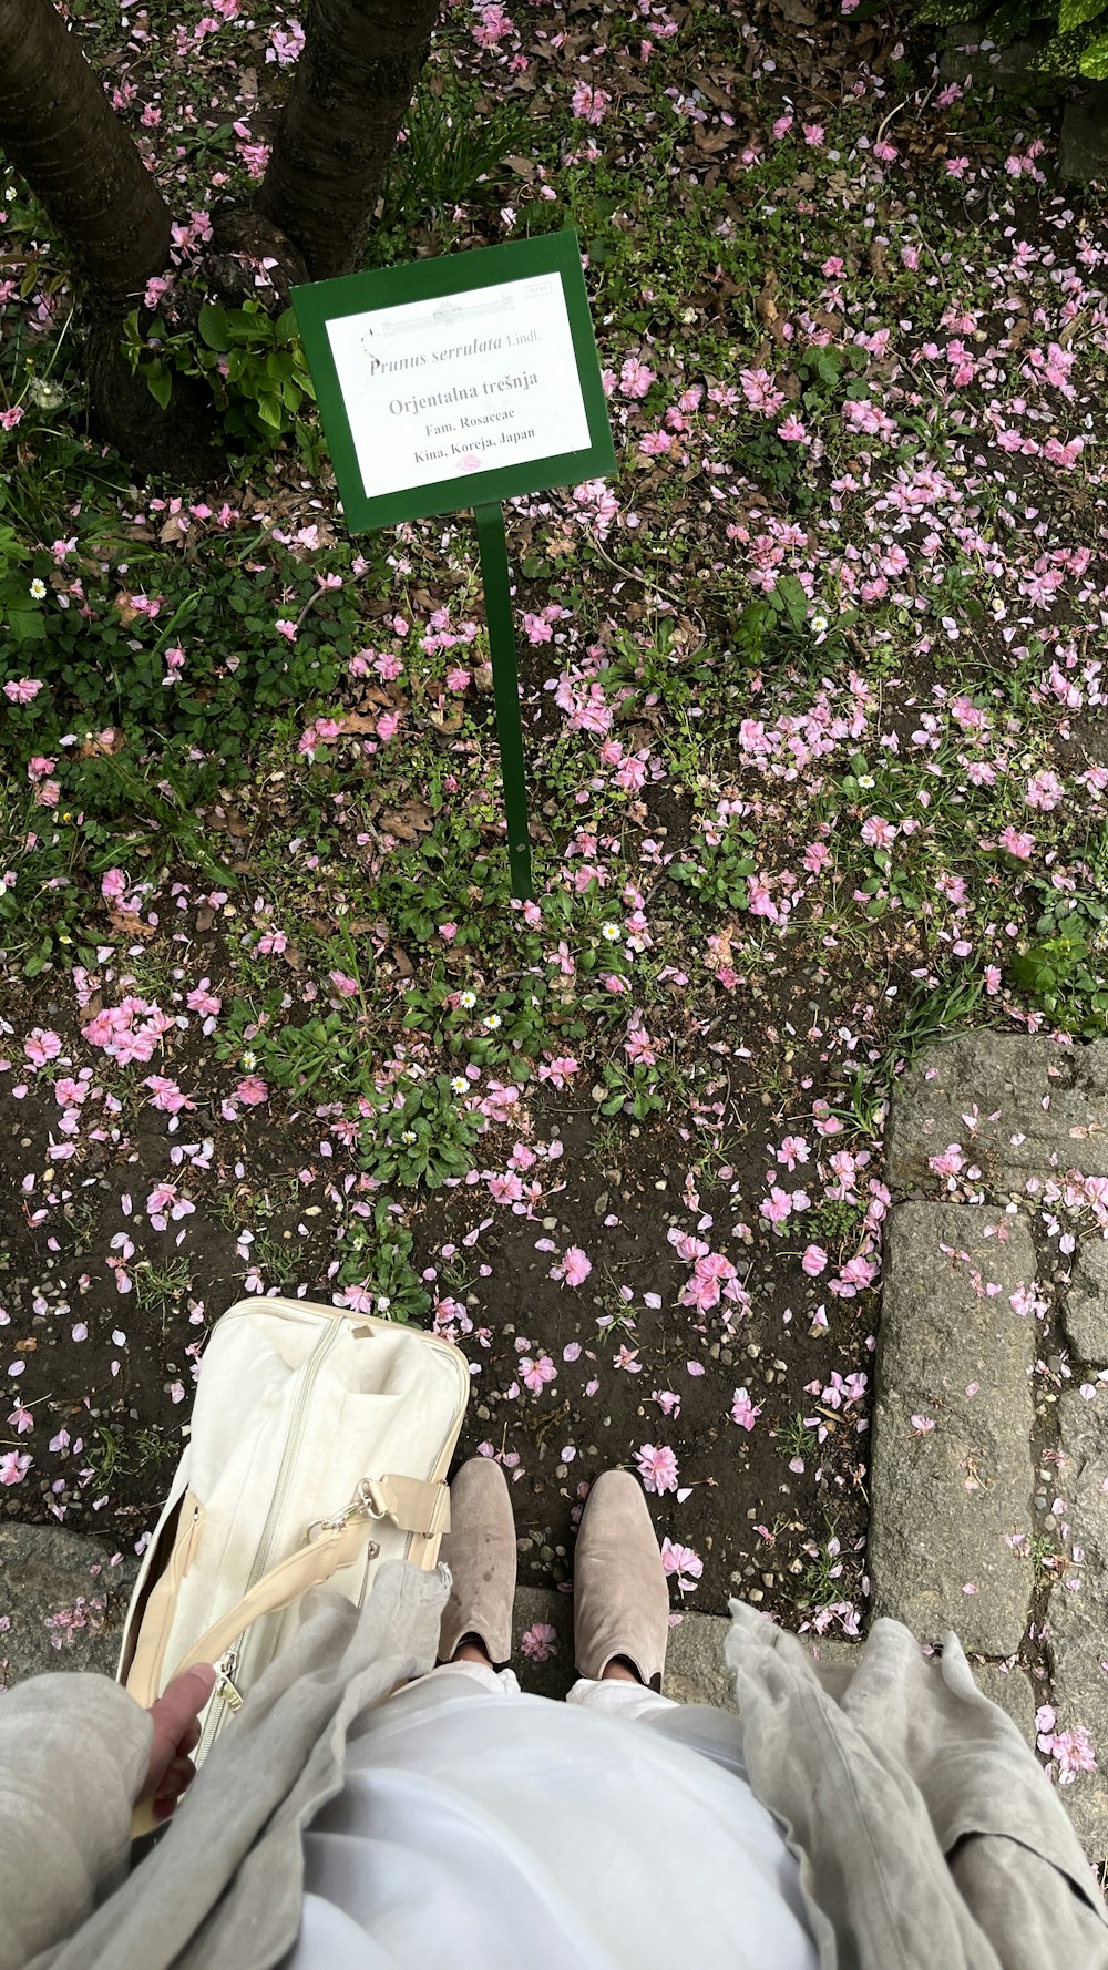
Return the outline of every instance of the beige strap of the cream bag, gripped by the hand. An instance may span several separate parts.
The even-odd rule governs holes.
[[[323,1586],[331,1574],[343,1566],[353,1566],[365,1550],[365,1535],[375,1519],[392,1519],[404,1533],[418,1539],[440,1539],[450,1531],[450,1491],[446,1483],[430,1483],[424,1478],[365,1478],[359,1485],[359,1501],[349,1505],[335,1519],[315,1521],[313,1535],[306,1546],[290,1552],[286,1560],[262,1574],[242,1600],[235,1602],[213,1621],[209,1629],[187,1649],[173,1676],[197,1663],[217,1663],[233,1641],[242,1635],[252,1621],[264,1613],[280,1613],[302,1600],[310,1588]],[[173,1678],[170,1676],[168,1682]]]

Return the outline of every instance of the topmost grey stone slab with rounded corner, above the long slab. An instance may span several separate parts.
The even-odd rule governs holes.
[[[929,1156],[950,1143],[984,1178],[1019,1192],[1027,1176],[1108,1176],[1108,1040],[964,1032],[927,1048],[891,1103],[891,1190],[935,1190]]]

